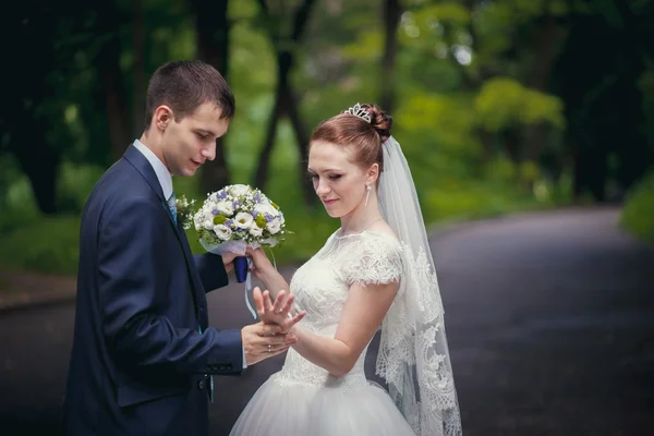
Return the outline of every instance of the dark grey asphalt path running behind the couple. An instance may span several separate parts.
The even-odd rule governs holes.
[[[654,251],[617,217],[557,211],[432,240],[467,436],[654,434]],[[240,287],[209,305],[218,327],[249,322]],[[73,313],[0,317],[1,435],[58,434]],[[218,378],[213,435],[281,362]]]

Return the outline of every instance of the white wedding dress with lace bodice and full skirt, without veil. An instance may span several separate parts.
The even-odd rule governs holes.
[[[401,251],[389,233],[340,237],[337,231],[290,283],[298,307],[306,311],[301,326],[332,338],[350,283],[401,280]],[[366,379],[366,351],[350,373],[336,378],[291,348],[281,371],[256,391],[230,435],[414,436],[389,395]]]

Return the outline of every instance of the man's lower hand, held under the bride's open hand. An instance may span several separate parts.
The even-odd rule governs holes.
[[[283,335],[281,327],[257,323],[241,330],[245,363],[254,365],[265,359],[283,353],[298,341],[295,335]]]

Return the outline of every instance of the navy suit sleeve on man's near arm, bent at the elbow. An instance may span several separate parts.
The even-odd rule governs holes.
[[[98,238],[99,298],[105,338],[117,359],[177,373],[242,371],[239,330],[179,328],[161,315],[170,305],[166,286],[164,205],[149,198],[106,210]]]

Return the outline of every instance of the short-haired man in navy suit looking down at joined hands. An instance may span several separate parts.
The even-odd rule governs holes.
[[[213,160],[233,113],[234,97],[213,66],[162,65],[147,89],[143,135],[89,195],[66,435],[205,436],[209,399],[220,395],[213,376],[238,375],[295,341],[280,332],[299,318],[209,327],[205,292],[227,286],[234,255],[193,256],[178,220],[171,175],[193,175]]]

